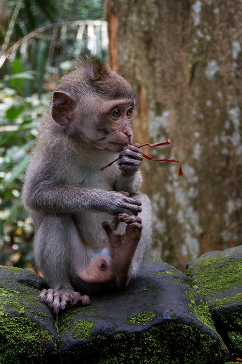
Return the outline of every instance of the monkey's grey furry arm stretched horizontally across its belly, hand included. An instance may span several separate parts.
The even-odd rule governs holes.
[[[72,214],[84,210],[108,212],[111,215],[128,213],[137,215],[141,211],[138,201],[124,192],[79,188],[39,183],[25,184],[22,194],[24,205],[48,214]]]

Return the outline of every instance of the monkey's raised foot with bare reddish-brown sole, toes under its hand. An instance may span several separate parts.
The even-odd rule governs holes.
[[[126,224],[125,232],[115,231],[108,222],[103,223],[112,248],[112,265],[117,283],[124,286],[128,281],[128,272],[136,247],[141,237],[141,219],[134,215],[121,214],[119,220]]]

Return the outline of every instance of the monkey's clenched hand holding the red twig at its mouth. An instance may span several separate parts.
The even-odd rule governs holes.
[[[142,152],[139,148],[129,145],[122,149],[119,154],[118,165],[124,177],[137,172],[143,159]]]

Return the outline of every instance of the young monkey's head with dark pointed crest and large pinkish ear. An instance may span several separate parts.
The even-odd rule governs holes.
[[[51,116],[76,139],[119,152],[133,139],[135,105],[129,83],[108,65],[82,57],[54,92]]]

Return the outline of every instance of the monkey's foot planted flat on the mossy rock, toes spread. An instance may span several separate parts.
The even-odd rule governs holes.
[[[40,294],[40,300],[52,309],[56,316],[58,316],[59,311],[64,310],[67,305],[71,307],[75,307],[80,304],[88,306],[91,303],[88,296],[82,296],[78,292],[67,292],[64,290],[54,291],[51,288],[43,289]]]

